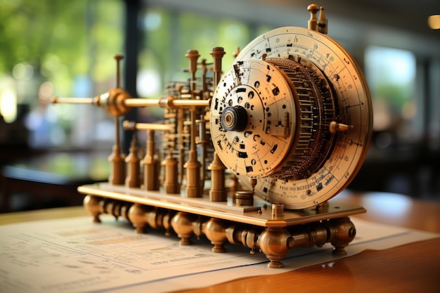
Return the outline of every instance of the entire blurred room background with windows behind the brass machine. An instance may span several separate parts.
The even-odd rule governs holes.
[[[233,52],[260,34],[306,27],[309,4],[0,0],[0,210],[80,204],[76,186],[108,176],[112,118],[90,105],[51,105],[52,96],[93,97],[115,87],[120,53],[122,86],[131,96],[159,98],[168,82],[187,78],[188,49],[210,60],[211,49],[223,46],[226,71]],[[317,4],[373,98],[373,141],[349,188],[440,200],[440,25],[429,18],[440,14],[440,2]],[[127,116],[151,122],[162,110]]]

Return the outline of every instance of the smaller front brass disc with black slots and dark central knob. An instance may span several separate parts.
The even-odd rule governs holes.
[[[295,138],[295,99],[278,67],[243,60],[219,82],[211,103],[214,148],[234,174],[258,178],[276,171]]]

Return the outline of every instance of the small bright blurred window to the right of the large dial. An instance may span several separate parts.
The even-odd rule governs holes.
[[[373,99],[373,129],[380,148],[417,138],[415,56],[409,51],[370,46],[365,50],[365,76]]]

